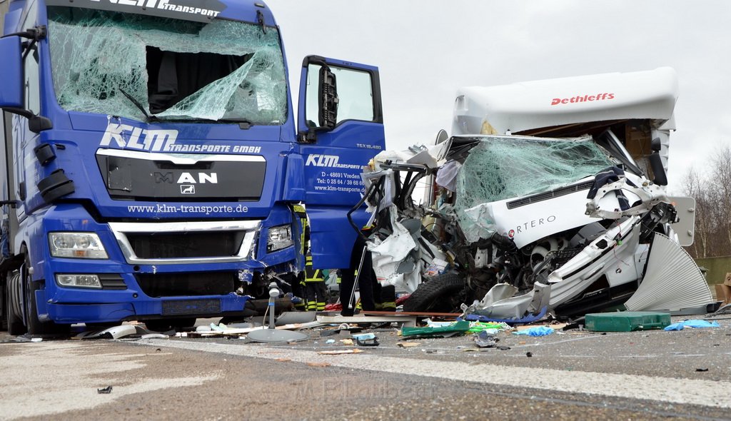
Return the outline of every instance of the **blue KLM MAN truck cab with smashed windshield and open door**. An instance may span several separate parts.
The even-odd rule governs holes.
[[[240,0],[13,0],[0,57],[11,334],[245,314],[303,268],[297,203],[314,265],[347,266],[376,67],[306,57],[295,123],[280,29]]]

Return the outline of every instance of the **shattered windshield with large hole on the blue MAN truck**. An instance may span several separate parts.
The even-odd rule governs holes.
[[[66,110],[138,121],[287,119],[276,29],[48,8],[53,84]]]

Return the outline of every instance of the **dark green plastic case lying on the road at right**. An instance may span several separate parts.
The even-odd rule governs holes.
[[[632,332],[632,330],[664,329],[670,325],[670,313],[657,311],[617,311],[587,314],[585,325],[594,332]]]

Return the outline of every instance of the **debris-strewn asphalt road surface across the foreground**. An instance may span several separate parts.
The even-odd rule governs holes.
[[[317,353],[353,349],[322,330],[296,344],[6,342],[0,420],[731,420],[731,320],[719,323],[501,333],[510,349],[482,350],[471,336],[404,349],[397,330],[379,329],[380,346],[344,355]]]

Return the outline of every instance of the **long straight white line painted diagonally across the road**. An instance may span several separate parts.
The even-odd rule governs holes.
[[[356,370],[372,370],[410,376],[428,376],[510,387],[531,387],[542,390],[605,395],[618,398],[647,399],[669,403],[694,404],[731,408],[731,382],[638,376],[633,374],[564,371],[550,368],[512,367],[496,364],[474,364],[452,361],[428,361],[395,358],[383,355],[319,355],[315,351],[151,339],[138,344],[170,346],[219,354],[276,360],[288,358],[299,363],[330,363]]]

